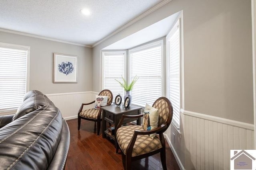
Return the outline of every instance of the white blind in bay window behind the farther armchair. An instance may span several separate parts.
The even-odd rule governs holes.
[[[116,95],[124,95],[124,90],[116,81],[122,82],[121,76],[124,76],[124,57],[126,52],[103,52],[103,89],[108,89],[113,94],[113,99]],[[116,79],[116,80],[115,80]]]

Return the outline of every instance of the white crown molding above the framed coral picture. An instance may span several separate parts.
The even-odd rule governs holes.
[[[24,32],[19,32],[19,31],[12,31],[12,30],[9,30],[9,29],[2,29],[2,28],[0,28],[0,31],[6,32],[6,33],[13,33],[13,34],[18,34],[18,35],[24,35],[24,36],[28,36],[28,37],[46,39],[46,40],[50,40],[50,41],[56,41],[56,42],[59,42],[59,43],[65,43],[65,44],[78,45],[78,46],[82,46],[82,47],[89,47],[89,48],[92,48],[91,45],[84,45],[84,44],[79,44],[79,43],[72,43],[72,42],[69,42],[69,41],[62,41],[62,40],[59,40],[59,39],[53,39],[53,38],[43,37],[43,36],[34,35],[34,34],[30,34],[30,33],[24,33]]]

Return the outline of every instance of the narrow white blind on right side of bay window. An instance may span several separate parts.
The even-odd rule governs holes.
[[[167,43],[167,95],[172,102],[172,122],[180,127],[180,26],[179,21],[166,37]]]

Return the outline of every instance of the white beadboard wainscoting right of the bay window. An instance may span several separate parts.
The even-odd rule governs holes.
[[[172,135],[165,137],[182,169],[228,170],[230,149],[254,149],[253,124],[186,110],[181,117],[182,145],[170,143]]]

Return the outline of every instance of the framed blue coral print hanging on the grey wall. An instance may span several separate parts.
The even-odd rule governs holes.
[[[54,53],[53,82],[77,83],[77,56]]]

